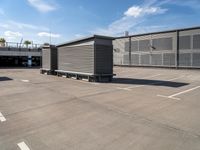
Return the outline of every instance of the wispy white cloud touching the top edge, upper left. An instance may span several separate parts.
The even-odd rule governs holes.
[[[50,12],[56,10],[55,5],[49,4],[44,0],[28,0],[29,4],[40,12]]]

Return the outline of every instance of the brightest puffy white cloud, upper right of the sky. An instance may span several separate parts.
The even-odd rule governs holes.
[[[145,14],[161,14],[165,13],[166,11],[167,9],[162,9],[160,7],[132,6],[124,13],[124,15],[137,18]]]

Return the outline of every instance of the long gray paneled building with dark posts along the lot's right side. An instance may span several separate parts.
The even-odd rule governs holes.
[[[200,68],[200,27],[118,37],[114,65]]]

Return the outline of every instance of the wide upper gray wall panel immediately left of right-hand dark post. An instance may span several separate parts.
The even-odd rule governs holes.
[[[172,50],[172,38],[158,38],[153,39],[153,50]]]

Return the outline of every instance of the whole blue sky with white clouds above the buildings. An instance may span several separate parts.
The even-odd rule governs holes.
[[[0,37],[53,44],[200,26],[200,0],[1,0]]]

